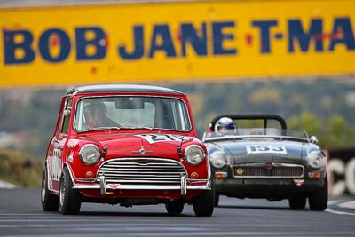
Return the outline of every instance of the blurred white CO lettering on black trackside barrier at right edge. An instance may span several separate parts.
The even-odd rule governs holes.
[[[328,170],[331,172],[330,194],[332,196],[339,196],[348,191],[350,194],[355,195],[355,157],[346,163],[339,158],[332,158],[328,162]],[[341,176],[343,180],[335,181],[334,176]]]

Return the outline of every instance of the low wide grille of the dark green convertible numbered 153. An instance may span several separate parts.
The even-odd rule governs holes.
[[[240,178],[302,178],[304,166],[293,164],[273,164],[267,169],[265,164],[234,166],[234,177]]]

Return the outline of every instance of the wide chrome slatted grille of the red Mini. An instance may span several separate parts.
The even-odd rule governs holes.
[[[184,166],[177,161],[161,158],[119,158],[105,162],[99,168],[107,184],[180,185],[186,175]]]

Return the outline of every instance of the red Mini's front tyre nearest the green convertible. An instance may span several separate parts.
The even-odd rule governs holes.
[[[215,209],[215,188],[211,182],[211,190],[200,194],[195,201],[193,201],[193,211],[196,217],[210,217]]]

